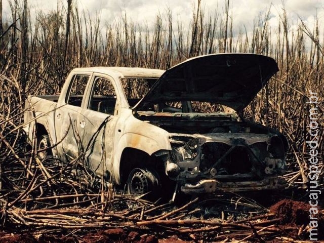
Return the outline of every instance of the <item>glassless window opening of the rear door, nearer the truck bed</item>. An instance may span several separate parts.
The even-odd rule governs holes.
[[[66,98],[65,103],[78,107],[81,106],[89,77],[90,75],[79,74],[76,74],[72,77],[72,81],[69,87],[69,95]]]

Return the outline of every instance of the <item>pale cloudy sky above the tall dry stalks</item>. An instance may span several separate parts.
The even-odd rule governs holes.
[[[3,0],[3,14],[10,13],[9,1]],[[21,0],[20,0],[21,1]],[[180,19],[183,25],[188,25],[192,19],[193,6],[197,0],[73,0],[77,2],[79,9],[89,12],[94,19],[100,16],[102,23],[113,23],[127,14],[128,19],[140,25],[147,24],[153,28],[155,17],[158,13],[166,14],[169,8],[173,19]],[[31,9],[31,18],[36,16],[36,11],[47,13],[59,6],[65,6],[67,0],[27,0]],[[225,0],[202,0],[205,12],[224,12]],[[319,23],[324,23],[323,0],[231,0],[230,12],[233,16],[233,30],[245,26],[248,30],[253,27],[253,20],[261,14],[265,16],[270,8],[270,26],[277,27],[278,16],[282,12],[283,4],[287,11],[292,29],[297,28],[298,18],[301,18],[311,29],[314,24],[314,16],[317,15]],[[184,26],[186,27],[186,26]],[[320,26],[323,29],[323,26]]]

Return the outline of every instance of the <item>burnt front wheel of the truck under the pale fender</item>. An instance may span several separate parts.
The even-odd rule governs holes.
[[[145,194],[146,198],[154,198],[160,188],[159,177],[155,170],[148,168],[135,168],[131,171],[127,180],[129,194]]]

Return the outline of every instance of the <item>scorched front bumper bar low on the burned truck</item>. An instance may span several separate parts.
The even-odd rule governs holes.
[[[220,191],[255,191],[279,189],[287,186],[287,181],[278,177],[267,177],[261,181],[220,182],[215,179],[204,179],[197,184],[185,184],[181,191],[186,194],[210,193]]]

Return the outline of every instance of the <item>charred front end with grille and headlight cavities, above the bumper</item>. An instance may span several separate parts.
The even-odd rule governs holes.
[[[256,180],[266,175],[280,174],[285,169],[285,153],[275,134],[213,133],[171,134],[172,151],[166,173],[175,180],[217,178],[245,180],[244,177],[225,178],[225,175],[251,175]],[[276,154],[273,154],[273,147]]]

